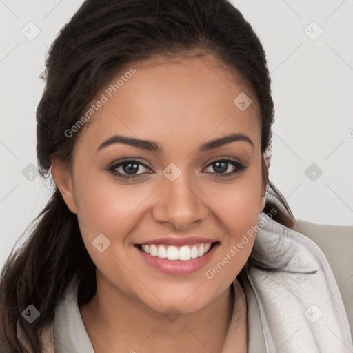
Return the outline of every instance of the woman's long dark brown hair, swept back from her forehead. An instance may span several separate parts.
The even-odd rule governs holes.
[[[274,103],[265,52],[243,15],[226,0],[86,0],[61,29],[46,57],[46,88],[37,108],[37,157],[48,177],[53,156],[69,163],[83,132],[68,138],[100,90],[131,63],[158,55],[178,57],[211,53],[238,72],[261,107],[261,150],[272,139]],[[195,56],[194,55],[194,56]],[[263,212],[289,228],[290,208],[268,181]],[[34,220],[26,243],[8,257],[1,271],[1,352],[41,353],[41,332],[54,320],[54,309],[77,276],[79,306],[96,292],[95,265],[85,249],[77,215],[59,190]],[[33,222],[34,222],[33,221]],[[249,261],[252,261],[250,256]],[[255,259],[254,263],[261,263]],[[40,316],[28,323],[21,312],[34,305]],[[17,336],[17,324],[26,340]]]

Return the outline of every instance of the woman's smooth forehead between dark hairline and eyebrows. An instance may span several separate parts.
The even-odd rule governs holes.
[[[245,110],[234,103],[243,94],[252,101]],[[161,145],[179,141],[195,148],[195,143],[234,132],[247,134],[260,145],[256,97],[236,72],[210,54],[154,57],[131,64],[97,99],[102,95],[105,103],[90,119],[82,139],[96,148],[114,134]]]

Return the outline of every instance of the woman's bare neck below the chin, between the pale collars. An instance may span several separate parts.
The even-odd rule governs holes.
[[[234,312],[234,290],[231,285],[201,310],[170,316],[152,310],[112,287],[102,276],[97,276],[96,294],[90,303],[79,309],[95,353],[134,350],[145,353],[220,353],[225,341],[229,340],[227,332],[234,314],[236,327],[235,332],[232,328],[231,339],[241,338],[247,344],[246,327],[238,327],[237,324],[244,326],[244,315],[240,312],[244,308],[246,312],[246,307],[239,295],[243,295],[243,291],[240,285],[235,290],[235,298],[239,296],[240,300],[236,301]],[[239,345],[238,339],[236,342]]]

